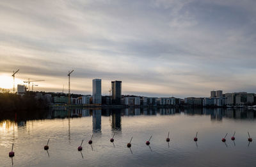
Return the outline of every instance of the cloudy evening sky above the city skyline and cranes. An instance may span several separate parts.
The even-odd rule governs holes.
[[[256,92],[255,0],[0,1],[0,87],[209,97]]]

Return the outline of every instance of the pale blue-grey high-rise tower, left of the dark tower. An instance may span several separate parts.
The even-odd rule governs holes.
[[[101,79],[92,80],[92,102],[101,104]]]

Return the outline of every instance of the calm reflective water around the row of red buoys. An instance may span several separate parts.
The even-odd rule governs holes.
[[[8,157],[12,143],[13,166],[256,166],[256,111],[72,109],[70,115],[56,109],[43,120],[1,121],[0,166],[12,166]],[[235,142],[230,139],[234,131]],[[253,138],[250,145],[248,131]],[[226,133],[227,142],[222,143]],[[148,147],[145,141],[151,135]],[[44,145],[49,138],[47,152]],[[78,152],[82,139],[83,151]]]

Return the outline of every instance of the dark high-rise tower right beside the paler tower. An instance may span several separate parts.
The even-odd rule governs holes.
[[[111,81],[111,97],[113,104],[121,104],[122,81]]]

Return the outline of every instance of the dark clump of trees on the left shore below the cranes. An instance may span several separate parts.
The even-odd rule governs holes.
[[[0,114],[30,113],[45,108],[47,108],[46,102],[35,99],[35,95],[29,92],[23,96],[8,92],[0,93]]]

